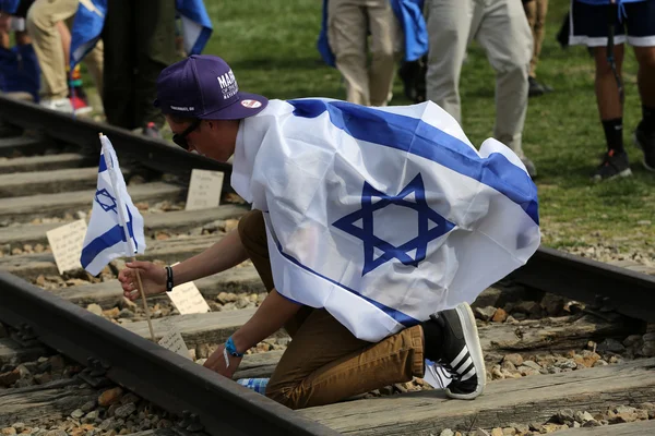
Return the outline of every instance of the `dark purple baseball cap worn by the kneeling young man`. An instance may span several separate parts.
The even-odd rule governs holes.
[[[229,65],[210,55],[192,55],[162,70],[154,102],[163,113],[203,120],[240,120],[267,104],[265,97],[240,92]]]

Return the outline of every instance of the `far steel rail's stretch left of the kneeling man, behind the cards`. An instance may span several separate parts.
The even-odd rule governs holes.
[[[109,137],[120,156],[121,164],[140,162],[143,166],[181,177],[188,177],[194,168],[223,171],[224,190],[229,186],[231,165],[218,162],[189,153],[163,140],[155,140],[90,119],[44,109],[28,101],[0,95],[0,122],[41,132],[46,136],[80,147],[82,154],[97,156],[100,150],[98,133]]]

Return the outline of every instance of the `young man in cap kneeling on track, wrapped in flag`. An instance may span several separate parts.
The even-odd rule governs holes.
[[[246,350],[284,327],[291,342],[266,396],[291,409],[437,366],[450,397],[483,392],[466,301],[539,244],[536,187],[516,155],[495,140],[478,153],[432,102],[269,101],[240,92],[211,56],[165,69],[155,104],[179,146],[219,161],[234,155],[233,187],[253,210],[174,267],[128,264],[127,298],[138,295],[135,269],[155,294],[251,259],[269,295],[206,367],[231,377]]]

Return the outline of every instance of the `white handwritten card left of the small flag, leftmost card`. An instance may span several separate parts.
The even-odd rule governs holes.
[[[46,232],[59,274],[82,268],[80,255],[86,234],[86,221],[79,219]]]

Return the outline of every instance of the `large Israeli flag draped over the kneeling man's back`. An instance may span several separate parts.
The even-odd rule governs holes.
[[[428,101],[271,100],[239,131],[231,183],[264,211],[277,291],[378,341],[473,302],[537,250],[537,190]]]

